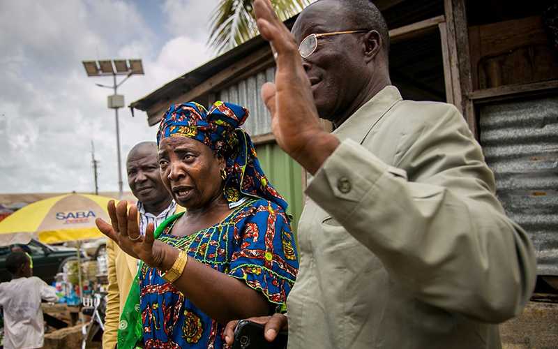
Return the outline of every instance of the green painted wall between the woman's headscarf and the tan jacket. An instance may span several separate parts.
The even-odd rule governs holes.
[[[296,233],[302,213],[302,168],[282,151],[277,143],[256,145],[257,157],[267,178],[289,203],[287,213],[293,216],[292,230]]]

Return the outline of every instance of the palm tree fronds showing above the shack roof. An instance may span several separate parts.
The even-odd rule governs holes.
[[[271,0],[281,20],[287,20],[312,0]],[[223,53],[257,34],[252,0],[220,0],[211,15],[209,45]]]

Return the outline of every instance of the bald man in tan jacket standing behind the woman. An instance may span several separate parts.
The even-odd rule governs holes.
[[[176,205],[163,186],[155,142],[141,142],[130,150],[126,160],[126,172],[130,189],[137,198],[137,211],[140,213],[138,218],[142,234],[145,233],[149,223],[153,223],[157,228],[157,225],[168,217],[178,211],[183,211],[183,208]],[[113,349],[116,347],[116,332],[120,314],[137,272],[137,260],[124,253],[111,239],[107,241],[107,255],[109,290],[103,348]]]

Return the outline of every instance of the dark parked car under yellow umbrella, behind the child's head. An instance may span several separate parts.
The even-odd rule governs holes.
[[[49,285],[54,281],[54,276],[62,272],[66,262],[77,260],[77,250],[73,247],[50,246],[35,239],[31,239],[31,242],[24,246],[27,246],[24,249],[33,258],[33,276],[38,276]],[[10,252],[10,246],[0,247],[0,282],[12,279],[10,272],[6,269],[6,258]]]

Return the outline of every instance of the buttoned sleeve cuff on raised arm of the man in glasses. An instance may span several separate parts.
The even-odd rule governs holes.
[[[407,177],[354,140],[344,140],[324,161],[306,188],[306,195],[338,221],[345,221],[382,175]],[[368,198],[370,200],[370,198]]]

